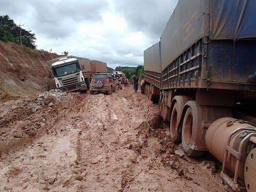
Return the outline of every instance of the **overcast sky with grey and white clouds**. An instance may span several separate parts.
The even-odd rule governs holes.
[[[178,0],[1,0],[9,15],[36,34],[37,49],[105,61],[143,64],[143,50],[157,43]]]

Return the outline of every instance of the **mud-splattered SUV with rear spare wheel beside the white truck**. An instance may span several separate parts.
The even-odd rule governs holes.
[[[106,72],[99,72],[92,75],[90,93],[106,92],[112,94],[116,91],[116,81],[113,75]]]

